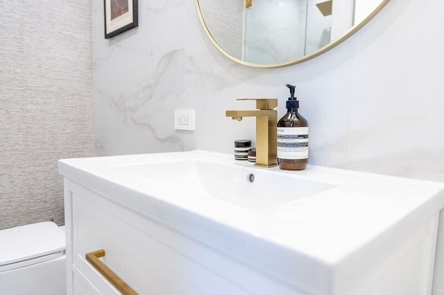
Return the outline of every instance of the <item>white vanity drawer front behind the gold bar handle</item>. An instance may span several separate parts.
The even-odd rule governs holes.
[[[101,261],[139,294],[248,294],[189,258],[187,254],[208,257],[208,253],[199,251],[202,247],[197,244],[190,247],[195,242],[188,238],[74,183],[71,195],[73,267],[100,294],[114,293],[85,260],[86,253],[99,249],[105,250]],[[98,283],[97,278],[102,281]]]

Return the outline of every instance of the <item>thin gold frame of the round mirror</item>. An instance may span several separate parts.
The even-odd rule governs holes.
[[[251,62],[245,62],[244,60],[239,60],[239,58],[230,55],[221,46],[219,46],[219,44],[217,44],[216,40],[214,40],[213,36],[211,35],[210,30],[208,30],[207,25],[205,24],[205,21],[203,20],[202,12],[200,11],[199,0],[194,0],[194,3],[196,3],[197,14],[200,19],[200,24],[202,24],[202,27],[205,30],[205,33],[210,38],[212,44],[214,44],[214,46],[216,46],[216,48],[219,49],[219,51],[221,51],[221,53],[223,53],[223,55],[230,58],[230,60],[234,60],[234,62],[238,62],[239,64],[244,64],[244,66],[253,66],[256,68],[280,68],[282,66],[291,66],[293,64],[300,64],[301,62],[311,60],[312,58],[314,58],[318,55],[321,55],[321,54],[329,51],[330,49],[338,46],[339,44],[344,42],[346,39],[351,37],[353,34],[355,34],[363,26],[365,26],[368,23],[368,21],[370,21],[370,19],[373,19],[373,17],[375,17],[375,15],[377,15],[378,12],[381,11],[382,8],[384,8],[384,6],[386,6],[388,1],[390,1],[390,0],[382,0],[382,2],[379,4],[379,6],[377,6],[377,8],[375,8],[375,10],[373,10],[373,12],[371,12],[370,15],[368,15],[363,21],[361,21],[359,24],[357,24],[355,26],[352,26],[341,37],[336,38],[334,41],[330,42],[329,44],[319,48],[316,51],[313,51],[309,55],[298,57],[298,58],[296,58],[296,60],[289,60],[288,62],[282,62],[279,64],[253,64]]]

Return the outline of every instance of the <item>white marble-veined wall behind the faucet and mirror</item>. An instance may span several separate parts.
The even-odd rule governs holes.
[[[253,69],[216,51],[194,1],[139,0],[139,28],[103,39],[93,2],[94,120],[99,154],[214,150],[254,138],[254,120],[225,118],[242,97],[297,85],[310,124],[310,163],[444,181],[444,1],[393,0],[356,35],[314,60]],[[196,109],[196,131],[173,130]],[[435,293],[444,294],[444,216]]]

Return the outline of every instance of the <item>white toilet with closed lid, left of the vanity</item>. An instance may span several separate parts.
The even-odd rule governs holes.
[[[65,233],[54,222],[0,231],[0,294],[66,294]]]

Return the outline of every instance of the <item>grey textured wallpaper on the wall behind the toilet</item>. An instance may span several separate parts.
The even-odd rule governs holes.
[[[0,0],[0,229],[64,224],[57,160],[93,153],[91,3]]]

